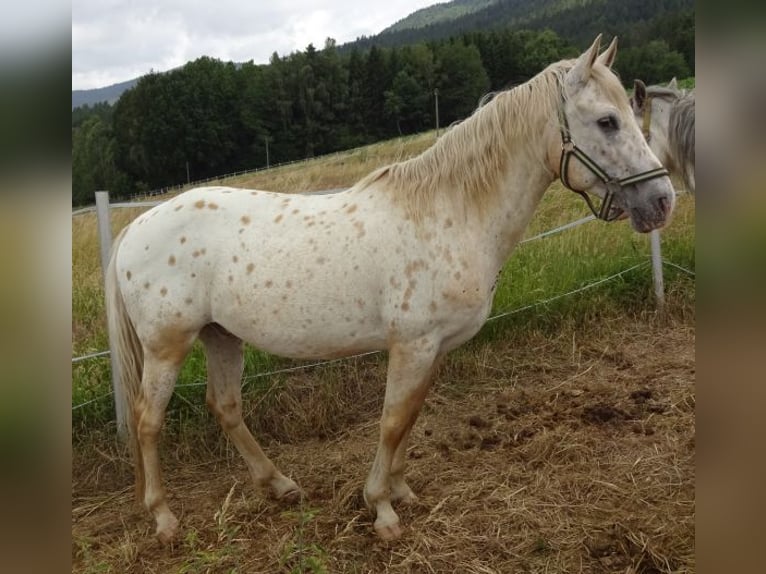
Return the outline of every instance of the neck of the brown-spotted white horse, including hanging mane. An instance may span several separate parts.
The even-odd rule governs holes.
[[[499,99],[517,96],[498,96],[422,155],[368,179],[385,181],[415,220],[465,222],[450,233],[487,268],[499,269],[521,239],[554,177],[552,138],[560,147],[555,108]]]

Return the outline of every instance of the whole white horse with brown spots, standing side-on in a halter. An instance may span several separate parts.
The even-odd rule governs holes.
[[[158,435],[197,338],[208,406],[255,483],[278,498],[301,491],[242,420],[243,341],[295,358],[387,350],[364,499],[382,538],[401,534],[391,503],[415,499],[405,454],[434,364],[485,322],[498,273],[550,183],[561,176],[603,198],[603,218],[625,212],[640,232],[662,227],[673,209],[667,172],[610,70],[616,42],[599,56],[600,38],[576,60],[497,94],[420,156],[347,191],[192,189],[119,235],[106,285],[109,332],[137,494],[161,541],[173,538],[178,520],[160,476]]]

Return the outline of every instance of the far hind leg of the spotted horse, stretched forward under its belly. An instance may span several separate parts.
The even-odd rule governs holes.
[[[276,498],[300,497],[295,482],[277,470],[242,420],[242,341],[211,324],[199,335],[207,356],[207,404],[242,458],[256,485],[268,486]]]

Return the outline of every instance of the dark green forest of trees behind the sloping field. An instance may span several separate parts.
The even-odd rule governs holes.
[[[663,13],[626,40],[615,66],[626,87],[694,75],[693,10]],[[328,38],[268,64],[203,57],[153,72],[113,106],[72,111],[72,203],[93,203],[98,189],[128,197],[421,132],[436,127],[437,109],[447,126],[486,92],[582,47],[551,28],[506,27],[393,46]]]

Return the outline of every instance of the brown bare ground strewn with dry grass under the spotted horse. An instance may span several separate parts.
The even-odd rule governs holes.
[[[316,399],[296,394],[286,404],[305,402],[306,413],[259,434],[306,491],[300,505],[257,492],[212,421],[165,437],[182,522],[168,547],[109,437],[73,442],[72,571],[693,572],[694,330],[635,321],[618,335],[598,325],[509,337],[447,361],[408,451],[420,498],[397,507],[405,533],[392,543],[373,534],[361,496],[377,441],[377,364],[347,374],[349,389],[376,398],[338,402],[350,409],[338,413],[346,426],[322,424],[326,438],[310,438]],[[311,377],[296,375],[285,392],[308,393]]]

